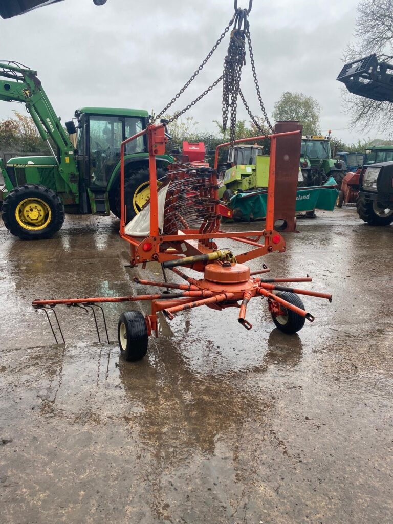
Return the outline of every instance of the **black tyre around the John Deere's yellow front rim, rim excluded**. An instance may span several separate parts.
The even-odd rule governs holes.
[[[50,208],[52,218],[42,230],[29,231],[16,220],[15,212],[18,204],[27,198],[39,198]],[[7,230],[23,240],[41,240],[50,238],[57,233],[64,222],[64,206],[59,196],[51,189],[39,184],[23,184],[12,189],[3,202],[2,218]]]

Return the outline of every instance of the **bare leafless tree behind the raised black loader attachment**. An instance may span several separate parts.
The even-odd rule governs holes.
[[[362,0],[357,6],[354,31],[355,43],[348,46],[345,60],[351,61],[368,54],[386,53],[393,63],[393,4],[392,0]],[[343,90],[345,110],[351,115],[350,127],[366,131],[370,128],[393,136],[393,104],[366,99]]]

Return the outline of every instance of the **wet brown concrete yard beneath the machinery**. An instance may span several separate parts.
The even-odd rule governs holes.
[[[105,307],[110,344],[90,314],[57,308],[65,346],[30,306],[151,292],[132,278],[159,268],[124,267],[118,222],[69,217],[41,242],[0,223],[0,521],[390,524],[393,226],[353,208],[298,226],[263,261],[333,293],[304,298],[313,324],[284,335],[262,299],[252,331],[199,308],[163,321],[132,364],[116,328],[137,304]]]

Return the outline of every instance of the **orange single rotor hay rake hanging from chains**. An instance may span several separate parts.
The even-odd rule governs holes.
[[[142,135],[147,135],[149,150],[150,200],[140,214],[127,223],[124,192],[125,146]],[[134,278],[134,282],[138,285],[165,288],[166,291],[115,298],[36,300],[32,305],[37,309],[45,309],[47,313],[48,308],[53,310],[58,304],[93,309],[95,305],[103,302],[150,301],[149,314],[143,316],[140,311],[128,311],[123,313],[119,320],[118,340],[121,353],[130,361],[136,361],[146,354],[149,335],[158,336],[158,314],[161,311],[172,320],[178,313],[203,305],[217,311],[235,307],[239,309],[238,322],[249,330],[252,329],[252,324],[246,319],[249,301],[254,298],[266,298],[276,326],[286,333],[299,331],[306,319],[310,322],[314,320],[313,315],[304,309],[299,295],[330,301],[331,295],[281,285],[310,282],[312,279],[308,276],[265,279],[257,276],[269,271],[265,265],[263,269],[253,273],[246,265],[249,260],[268,253],[285,252],[285,241],[281,234],[274,230],[275,150],[276,141],[281,137],[296,135],[299,136],[299,131],[269,135],[271,160],[266,227],[261,231],[236,233],[220,230],[221,208],[215,169],[184,162],[170,165],[167,177],[161,179],[163,183],[158,188],[156,156],[165,154],[165,124],[149,125],[142,132],[128,138],[121,147],[120,235],[130,244],[131,267],[141,264],[145,268],[148,262],[155,261],[161,264],[165,277],[165,281],[162,282],[139,278]],[[266,137],[255,137],[253,140],[261,138]],[[297,159],[294,161],[297,162]],[[249,246],[249,250],[235,256],[232,250],[219,249],[217,243],[220,244],[224,239],[231,241],[231,244]],[[192,278],[184,274],[180,267],[199,272],[202,278]],[[184,283],[168,282],[166,270],[182,278]],[[98,332],[95,315],[94,320]],[[53,331],[53,326],[51,327]]]

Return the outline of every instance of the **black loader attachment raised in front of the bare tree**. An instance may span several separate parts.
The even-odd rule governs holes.
[[[344,65],[339,76],[350,93],[379,102],[393,102],[393,57],[370,54]]]

